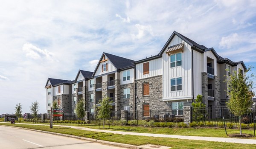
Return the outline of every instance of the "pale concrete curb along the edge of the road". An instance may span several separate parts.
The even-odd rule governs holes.
[[[48,133],[48,134],[52,134],[52,135],[60,135],[60,136],[65,136],[65,137],[70,137],[70,138],[76,138],[76,139],[81,139],[81,140],[86,140],[86,141],[98,142],[98,143],[107,144],[107,145],[125,147],[125,148],[128,148],[128,149],[137,149],[137,146],[131,145],[131,144],[116,143],[116,142],[103,141],[103,140],[97,140],[97,139],[92,139],[92,138],[79,137],[79,136],[76,136],[76,135],[66,135],[66,134],[62,134],[62,133],[47,132],[47,131],[43,131],[43,130],[22,128],[22,127],[15,127],[15,126],[7,126],[7,125],[1,125],[1,124],[0,124],[0,126],[12,127],[12,128],[20,128],[20,129],[31,130],[31,131],[35,131],[35,132]]]

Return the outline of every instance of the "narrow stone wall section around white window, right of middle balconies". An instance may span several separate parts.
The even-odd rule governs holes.
[[[123,92],[125,88],[130,88],[130,98],[123,98]],[[133,83],[120,85],[120,109],[124,110],[124,106],[130,106],[130,111],[133,111],[133,100],[134,100],[134,87]]]

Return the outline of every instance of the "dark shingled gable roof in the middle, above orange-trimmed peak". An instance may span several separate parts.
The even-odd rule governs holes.
[[[135,62],[134,60],[126,59],[124,57],[120,57],[120,56],[116,56],[116,55],[113,55],[113,54],[103,52],[92,76],[95,75],[96,70],[99,67],[100,61],[103,58],[103,55],[108,57],[108,60],[116,67],[117,70],[134,66],[134,64],[133,64],[133,62]]]

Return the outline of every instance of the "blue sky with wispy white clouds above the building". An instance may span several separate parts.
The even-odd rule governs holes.
[[[46,112],[48,77],[93,71],[102,52],[139,60],[159,53],[173,31],[222,57],[256,64],[253,0],[4,1],[0,5],[0,114],[15,104]],[[256,74],[256,69],[253,69]]]

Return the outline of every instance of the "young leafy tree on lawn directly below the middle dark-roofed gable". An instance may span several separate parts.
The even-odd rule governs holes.
[[[103,128],[105,128],[105,121],[106,121],[106,119],[110,117],[110,112],[111,112],[111,105],[109,105],[110,99],[111,98],[106,96],[99,103],[100,106],[97,107],[96,119],[102,119],[103,120]]]

